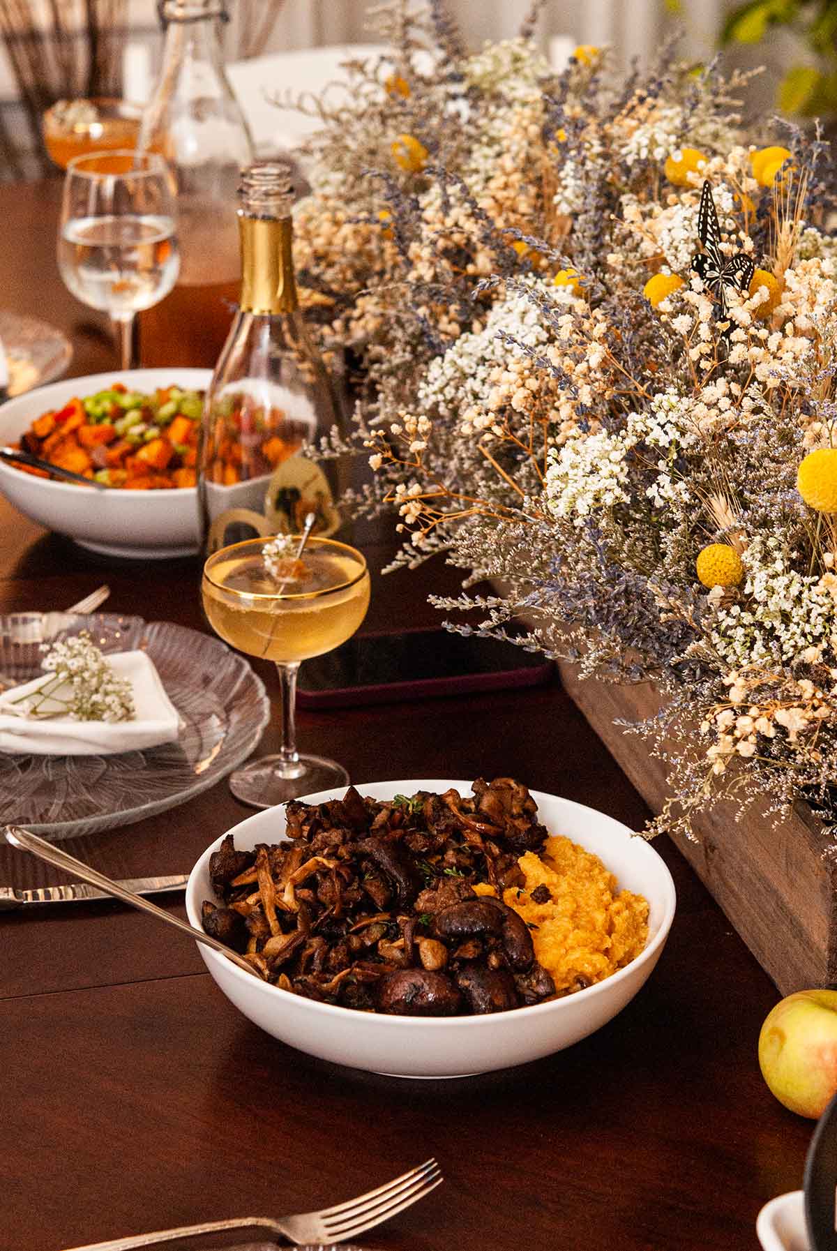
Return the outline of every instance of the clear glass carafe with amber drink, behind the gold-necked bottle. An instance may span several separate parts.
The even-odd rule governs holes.
[[[239,248],[230,204],[253,140],[224,73],[218,0],[163,0],[163,69],[138,149],[174,170],[181,243],[178,283],[140,319],[145,365],[214,365],[233,319]]]

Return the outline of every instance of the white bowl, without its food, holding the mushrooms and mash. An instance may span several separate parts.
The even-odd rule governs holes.
[[[440,793],[449,787],[470,794],[470,782],[425,778],[377,782],[358,786],[358,789],[363,796],[389,799],[415,791]],[[324,791],[309,799],[322,803],[340,797],[344,789]],[[261,982],[225,956],[200,945],[209,972],[235,1007],[274,1038],[322,1060],[397,1077],[463,1077],[510,1068],[586,1038],[633,998],[657,963],[674,916],[674,883],[653,847],[618,821],[539,791],[533,791],[532,797],[538,804],[539,819],[552,834],[567,834],[594,852],[616,873],[619,887],[648,899],[644,951],[606,981],[550,1003],[510,1012],[428,1018],[318,1003]],[[241,821],[231,833],[238,848],[251,849],[256,843],[280,842],[284,829],[284,811],[266,808]],[[200,927],[203,901],[215,898],[209,881],[209,857],[220,843],[218,838],[206,848],[189,877],[186,913],[193,926]]]

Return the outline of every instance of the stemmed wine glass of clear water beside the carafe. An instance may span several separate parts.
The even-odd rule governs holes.
[[[174,183],[158,153],[116,149],[69,163],[58,263],[78,299],[110,314],[121,368],[134,369],[134,318],[169,294],[180,268]]]

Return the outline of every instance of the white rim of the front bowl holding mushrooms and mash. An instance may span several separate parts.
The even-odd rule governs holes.
[[[418,781],[419,782],[424,782],[427,779],[419,778]],[[439,782],[439,779],[434,779],[434,781]],[[382,786],[382,784],[398,786],[399,789],[400,789],[403,787],[414,786],[415,783],[410,782],[409,779],[392,782],[392,783],[389,783],[389,782],[388,783],[358,783],[358,791],[360,792],[360,794],[363,794],[364,786]],[[442,783],[439,782],[439,784],[442,784]],[[455,787],[457,789],[460,789],[462,787],[465,787],[468,789],[470,787],[470,784],[472,784],[470,782],[467,782],[467,781],[464,781],[462,778],[459,778],[459,779],[448,779],[448,778],[445,778],[444,779],[445,788],[448,788],[448,787]],[[407,791],[407,789],[403,789],[400,793],[409,794],[410,792]],[[543,798],[558,798],[557,796],[547,796],[545,792],[543,792],[543,791],[530,791],[529,793],[532,794],[532,798],[535,801],[535,803],[539,802],[540,797],[543,797]],[[334,798],[334,791],[318,791],[315,794],[300,796],[299,798],[304,803],[324,803],[327,799],[333,799]],[[563,799],[562,798],[562,803],[572,804],[573,808],[578,808],[581,811],[589,811],[586,804],[583,804],[583,803],[576,803],[572,799]],[[275,811],[275,809],[264,809],[264,811],[270,812],[270,811]],[[602,816],[607,816],[607,814],[602,813]],[[244,819],[245,821],[248,821],[248,819],[251,821],[253,818],[249,817],[249,818],[244,818]],[[624,829],[624,827],[621,826],[621,823],[617,822],[614,818],[608,817],[608,821],[613,821],[614,826],[617,826],[617,828],[619,828],[621,831]],[[198,876],[203,872],[204,868],[206,868],[206,869],[209,868],[209,857],[211,856],[211,853],[220,847],[220,844],[224,841],[224,838],[226,837],[226,834],[230,834],[230,833],[234,834],[235,833],[235,829],[238,828],[239,824],[243,824],[243,822],[238,822],[236,826],[233,826],[230,829],[228,829],[225,833],[223,833],[219,838],[216,838],[206,848],[206,851],[201,854],[200,859],[198,859],[198,862],[195,863],[194,868],[191,869],[191,873],[189,874],[189,881],[186,883],[186,914],[188,914],[188,918],[189,918],[190,923],[193,926],[196,926],[198,928],[201,928],[200,914],[199,914],[198,907],[193,906],[193,893],[196,891],[196,887],[198,887]],[[279,838],[284,838],[284,831],[282,832],[282,834],[278,834],[276,837],[278,837],[278,839]],[[654,953],[658,951],[658,948],[662,947],[662,945],[666,942],[666,940],[668,937],[668,931],[669,931],[672,921],[674,918],[674,907],[676,907],[676,902],[677,902],[677,896],[676,896],[676,892],[674,892],[674,882],[672,881],[672,876],[668,872],[668,866],[663,861],[663,858],[659,854],[659,852],[656,852],[653,849],[653,847],[651,846],[651,843],[648,843],[646,839],[643,839],[641,834],[633,834],[633,837],[638,839],[638,842],[641,843],[642,847],[644,847],[644,849],[648,853],[649,858],[659,862],[658,867],[663,871],[663,881],[666,882],[666,906],[664,906],[664,912],[663,912],[663,916],[659,919],[659,924],[657,927],[657,933],[653,936],[653,938],[651,940],[651,942],[647,943],[646,947],[643,947],[643,950],[639,952],[639,955],[636,956],[628,965],[624,965],[623,968],[617,970],[616,973],[611,973],[609,977],[603,978],[601,982],[594,982],[593,986],[587,986],[582,991],[573,991],[572,995],[562,996],[558,1000],[548,1000],[545,1003],[532,1003],[528,1007],[510,1008],[510,1010],[508,1010],[505,1012],[489,1012],[489,1013],[485,1013],[485,1015],[467,1015],[467,1013],[463,1013],[460,1016],[449,1016],[449,1017],[424,1017],[424,1016],[423,1017],[412,1017],[412,1016],[399,1016],[397,1013],[389,1013],[389,1012],[387,1012],[387,1013],[382,1013],[382,1012],[379,1012],[379,1013],[375,1013],[375,1012],[362,1012],[359,1008],[344,1007],[343,1005],[339,1005],[339,1003],[320,1003],[319,1000],[308,1000],[307,998],[305,1002],[312,1007],[312,1010],[323,1013],[325,1020],[328,1020],[329,1017],[334,1017],[334,1016],[337,1016],[337,1018],[340,1020],[340,1021],[345,1021],[348,1016],[349,1017],[359,1017],[359,1018],[362,1018],[364,1021],[384,1020],[384,1021],[388,1022],[388,1026],[390,1026],[390,1027],[394,1026],[395,1028],[402,1028],[402,1030],[407,1030],[407,1028],[415,1030],[415,1026],[419,1022],[422,1025],[422,1028],[427,1027],[427,1028],[432,1028],[432,1030],[433,1028],[442,1030],[445,1026],[449,1028],[450,1025],[455,1021],[455,1023],[458,1026],[467,1026],[470,1030],[480,1030],[480,1028],[482,1030],[488,1030],[490,1027],[497,1027],[497,1018],[498,1017],[502,1017],[502,1018],[513,1017],[515,1021],[519,1021],[523,1017],[533,1016],[533,1015],[537,1015],[537,1013],[550,1012],[550,1011],[554,1012],[555,1005],[558,1005],[558,1003],[564,1003],[564,1002],[568,1002],[568,1001],[572,1001],[573,1003],[578,1003],[578,1002],[582,1002],[583,1000],[592,1000],[592,998],[598,997],[599,995],[607,993],[607,988],[608,987],[613,986],[617,982],[623,981],[629,975],[629,971],[636,970],[636,967],[638,965],[646,963],[648,960],[651,960],[654,956]],[[608,866],[606,864],[604,867],[607,868]],[[228,973],[230,973],[231,977],[234,977],[234,978],[236,978],[236,980],[239,980],[241,982],[246,982],[246,983],[249,983],[251,981],[251,975],[250,973],[245,973],[243,968],[239,968],[238,965],[234,965],[231,961],[229,961],[226,958],[226,956],[221,956],[220,952],[213,951],[211,947],[205,947],[204,946],[203,951],[204,951],[205,958],[211,960],[211,961],[216,961],[218,963],[223,962],[225,971]],[[300,998],[300,996],[294,995],[293,991],[283,991],[280,986],[274,986],[271,982],[261,982],[260,981],[259,986],[263,987],[266,992],[273,993],[274,996],[278,996],[279,998],[278,998],[276,1002],[279,1002],[279,1003],[282,1003],[284,1000],[297,1000],[298,1001]]]

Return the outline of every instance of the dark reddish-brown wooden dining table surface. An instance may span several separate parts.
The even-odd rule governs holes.
[[[74,373],[114,360],[54,260],[58,184],[0,188],[0,304],[73,338]],[[70,603],[201,629],[195,562],[116,564],[0,502],[0,610]],[[389,540],[364,542],[379,569]],[[375,577],[369,628],[433,622],[444,567]],[[270,674],[265,672],[270,682]],[[270,682],[270,689],[275,686]],[[647,813],[558,684],[302,713],[302,744],[358,783],[513,774],[638,828]],[[269,729],[259,752],[274,751]],[[250,809],[220,783],[150,821],[64,846],[115,877],[188,871]],[[453,1082],[382,1078],[261,1033],[195,947],[118,904],[0,919],[0,1247],[53,1251],[233,1215],[338,1202],[438,1156],[445,1185],[370,1247],[742,1251],[802,1182],[811,1122],[762,1082],[777,992],[678,852],[678,911],[647,986],[568,1051]],[[0,883],[58,881],[0,848]],[[170,902],[178,914],[181,906]]]

